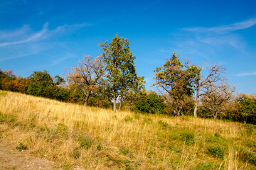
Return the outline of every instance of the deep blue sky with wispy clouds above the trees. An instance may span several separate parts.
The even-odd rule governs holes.
[[[176,52],[191,63],[223,64],[237,91],[256,93],[255,0],[0,0],[0,68],[63,76],[116,33],[129,40],[148,90],[154,69]]]

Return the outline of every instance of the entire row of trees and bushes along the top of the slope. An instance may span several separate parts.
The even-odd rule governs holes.
[[[182,62],[174,52],[154,70],[157,93],[146,91],[144,77],[138,77],[129,41],[116,35],[112,42],[100,42],[102,54],[82,59],[65,72],[50,77],[44,70],[29,77],[1,71],[0,89],[17,91],[58,101],[102,108],[130,109],[142,113],[193,115],[256,124],[256,96],[235,95],[235,87],[225,78],[225,67]],[[204,73],[204,74],[203,74]]]

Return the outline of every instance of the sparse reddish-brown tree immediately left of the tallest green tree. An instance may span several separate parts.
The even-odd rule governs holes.
[[[87,101],[92,94],[102,90],[104,73],[101,55],[95,59],[91,55],[84,55],[82,60],[66,74],[70,88],[85,95],[84,106],[87,106]]]

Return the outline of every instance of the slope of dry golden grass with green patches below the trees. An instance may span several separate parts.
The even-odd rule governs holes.
[[[0,137],[73,169],[256,169],[256,128],[0,91]]]

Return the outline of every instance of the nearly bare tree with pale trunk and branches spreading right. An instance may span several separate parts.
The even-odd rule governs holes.
[[[199,106],[200,97],[203,95],[208,95],[202,93],[202,89],[209,88],[210,85],[213,85],[217,83],[218,81],[225,80],[225,77],[222,76],[223,72],[225,71],[225,68],[221,66],[220,64],[214,64],[212,67],[208,67],[208,74],[206,77],[203,78],[202,74],[203,67],[198,67],[196,69],[196,79],[194,81],[195,89],[196,89],[196,102],[195,102],[195,108],[194,108],[194,117],[197,117],[197,110]]]

